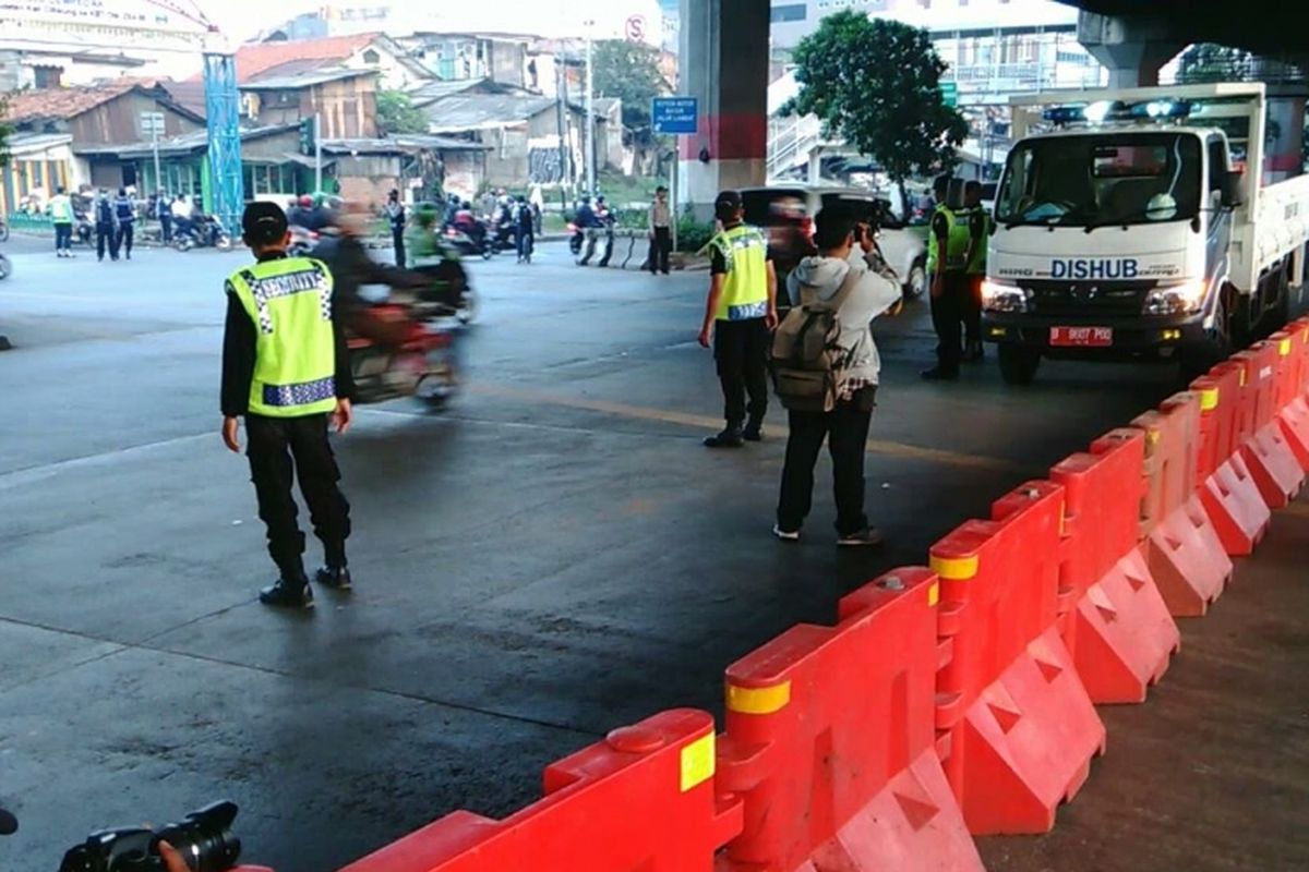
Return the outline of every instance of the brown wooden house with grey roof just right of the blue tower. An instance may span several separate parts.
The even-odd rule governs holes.
[[[377,136],[377,73],[370,69],[275,71],[240,89],[241,114],[254,124],[298,124],[319,115],[322,139]]]

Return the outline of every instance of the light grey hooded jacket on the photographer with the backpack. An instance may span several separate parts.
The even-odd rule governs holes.
[[[860,379],[877,384],[882,369],[877,344],[873,341],[872,320],[901,301],[899,286],[872,268],[870,258],[813,256],[805,258],[787,277],[787,290],[791,303],[801,306],[809,302],[825,302],[836,297],[846,277],[855,271],[859,284],[840,311],[836,320],[840,324],[838,345],[846,352],[850,365],[842,370],[847,379]]]

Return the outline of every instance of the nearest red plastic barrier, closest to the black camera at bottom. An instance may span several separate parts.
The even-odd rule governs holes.
[[[548,766],[546,797],[512,817],[454,812],[343,872],[711,872],[741,831],[713,767],[713,716],[665,711]]]

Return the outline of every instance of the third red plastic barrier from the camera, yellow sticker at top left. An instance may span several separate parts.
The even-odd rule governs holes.
[[[1045,833],[1105,746],[1059,635],[1063,488],[1029,482],[932,546],[937,752],[975,835]]]

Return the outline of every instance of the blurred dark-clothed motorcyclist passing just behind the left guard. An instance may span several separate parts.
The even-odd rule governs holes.
[[[327,226],[314,256],[332,275],[332,311],[346,328],[384,346],[404,344],[414,322],[387,319],[374,311],[374,303],[360,294],[364,285],[386,285],[399,290],[427,288],[431,280],[410,269],[387,267],[368,256],[363,237],[368,231],[368,212],[359,204],[346,204],[326,214]]]

